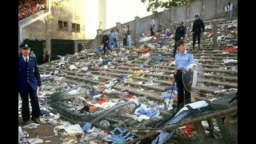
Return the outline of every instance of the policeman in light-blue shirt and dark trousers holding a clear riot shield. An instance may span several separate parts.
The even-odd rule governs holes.
[[[194,62],[194,56],[193,54],[190,54],[185,50],[186,46],[183,40],[179,40],[177,42],[177,46],[178,46],[179,52],[178,54],[175,55],[174,65],[176,67],[174,70],[173,82],[177,82],[178,107],[179,107],[191,102],[190,92],[185,89],[182,82],[182,72],[188,63]],[[185,99],[184,99],[184,90],[185,90]]]

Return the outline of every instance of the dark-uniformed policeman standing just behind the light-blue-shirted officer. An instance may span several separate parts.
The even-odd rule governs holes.
[[[183,40],[185,38],[185,35],[186,35],[186,27],[183,26],[183,23],[184,23],[183,21],[179,21],[178,27],[176,29],[176,33],[175,33],[175,37],[174,37],[174,40],[175,40],[175,43],[174,43],[174,56],[175,56],[176,50],[177,50],[176,43],[179,40]]]

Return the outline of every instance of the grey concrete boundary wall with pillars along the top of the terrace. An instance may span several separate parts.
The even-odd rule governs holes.
[[[194,19],[195,13],[202,15],[203,20],[215,18],[215,16],[223,14],[223,6],[224,3],[227,4],[227,2],[229,2],[229,0],[198,0],[195,2],[191,2],[189,18]],[[234,4],[234,6],[236,6],[238,0],[233,0],[232,3]],[[203,9],[203,7],[205,9]],[[150,32],[150,17],[154,17],[153,14],[139,19],[138,34]],[[163,22],[164,28],[170,28],[170,22],[178,22],[179,20],[186,20],[186,5],[171,6],[170,10],[164,10],[162,12],[159,12],[158,17],[155,21],[158,21],[158,24]],[[122,26],[130,25],[134,34],[134,24],[135,21],[133,20],[131,22],[122,23]],[[176,25],[178,25],[178,23],[173,23],[173,26]],[[103,31],[109,33],[112,28]],[[132,36],[134,37],[134,35]]]

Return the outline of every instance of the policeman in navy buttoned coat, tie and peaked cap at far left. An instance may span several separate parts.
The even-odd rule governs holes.
[[[38,104],[37,90],[42,90],[42,82],[37,66],[37,59],[30,57],[30,46],[22,44],[22,55],[18,57],[18,92],[22,98],[23,125],[30,121],[29,96],[32,106],[32,118],[39,123],[40,109]]]

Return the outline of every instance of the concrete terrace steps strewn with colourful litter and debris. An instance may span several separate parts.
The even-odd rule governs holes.
[[[230,34],[227,35],[223,33],[224,26],[218,26],[217,47],[212,47],[213,26],[206,23],[202,50],[196,47],[193,51],[195,61],[202,65],[205,72],[205,86],[198,94],[192,95],[194,102],[218,99],[222,94],[238,91],[236,22],[229,26]],[[122,128],[153,128],[174,114],[177,106],[177,87],[172,86],[174,40],[164,33],[159,35],[140,38],[137,46],[120,44],[113,52],[108,51],[106,56],[100,50],[82,50],[39,66],[43,82],[43,90],[38,91],[41,122],[54,125],[54,134],[63,143],[123,143],[145,133],[130,133]],[[186,34],[187,50],[192,47],[190,41]],[[70,90],[74,86],[78,87]],[[66,90],[70,91],[64,94]],[[125,102],[134,104],[118,106]],[[21,117],[21,99],[18,105]],[[112,110],[114,106],[117,108]],[[110,114],[99,118],[110,109]],[[84,130],[83,126],[94,118],[99,119]],[[26,129],[36,126],[33,123],[19,126],[19,141],[46,142],[42,138],[29,138]],[[202,126],[209,134],[208,123],[202,122]],[[197,138],[198,134],[193,127],[183,126],[178,128],[174,138],[181,136]],[[214,137],[221,138],[216,122]],[[177,143],[175,140],[172,142]]]

